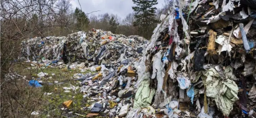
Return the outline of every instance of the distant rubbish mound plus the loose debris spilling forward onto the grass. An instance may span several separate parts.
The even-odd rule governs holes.
[[[40,65],[41,68],[60,68],[60,71],[62,68],[81,70],[81,73],[74,74],[72,78],[81,83],[81,86],[70,84],[63,87],[66,93],[80,89],[83,98],[87,100],[87,106],[81,107],[91,113],[87,116],[75,113],[76,115],[93,117],[103,113],[109,117],[125,117],[132,107],[135,94],[134,86],[138,78],[136,72],[139,68],[135,65],[140,61],[147,43],[140,36],[126,37],[92,29],[67,37],[30,38],[22,42],[20,58],[27,58],[32,69]],[[87,70],[90,71],[84,74]],[[43,82],[42,80],[48,80],[55,74],[52,73],[50,77],[48,75],[50,74],[40,72],[37,74],[40,78],[28,81],[28,85],[42,87],[68,82]],[[53,93],[46,93],[51,94]],[[70,110],[72,103],[73,100],[65,101],[61,110]]]

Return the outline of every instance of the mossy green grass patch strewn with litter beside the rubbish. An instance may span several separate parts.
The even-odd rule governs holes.
[[[63,87],[70,87],[70,84],[73,86],[81,86],[79,81],[75,81],[73,75],[76,73],[96,73],[86,70],[81,72],[80,69],[67,69],[64,66],[62,68],[49,67],[49,68],[39,68],[37,65],[31,66],[30,63],[26,64],[15,64],[13,65],[13,71],[19,73],[22,76],[26,76],[27,80],[38,79],[38,81],[43,81],[45,83],[53,83],[53,85],[43,85],[41,88],[32,88],[39,91],[38,94],[35,94],[35,98],[39,98],[43,93],[52,93],[50,95],[43,95],[40,105],[36,108],[40,114],[38,117],[41,118],[67,118],[67,117],[81,117],[77,116],[74,113],[79,113],[86,115],[89,111],[87,108],[88,105],[92,103],[87,103],[87,98],[83,98],[83,93],[80,93],[80,88],[76,91],[69,90],[70,92],[64,92]],[[30,69],[28,69],[30,68]],[[37,73],[44,72],[48,73],[47,76],[38,77]],[[55,75],[52,75],[55,74]],[[61,85],[56,85],[54,81],[64,82]],[[28,92],[29,93],[29,92]],[[64,108],[62,105],[63,102],[67,100],[73,100],[72,106],[68,110],[61,110]],[[68,113],[71,112],[72,113]]]

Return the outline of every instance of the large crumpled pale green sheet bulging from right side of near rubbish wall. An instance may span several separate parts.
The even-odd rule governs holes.
[[[214,69],[210,68],[206,72],[206,95],[215,98],[216,106],[221,112],[228,116],[233,109],[233,103],[238,100],[238,87],[232,80],[232,67],[224,70],[224,77]]]

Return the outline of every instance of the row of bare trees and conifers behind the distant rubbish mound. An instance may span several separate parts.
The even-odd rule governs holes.
[[[133,12],[125,18],[109,13],[86,14],[86,11],[78,7],[73,10],[70,0],[16,1],[1,1],[1,26],[15,27],[14,31],[19,35],[18,29],[24,30],[25,37],[66,36],[79,30],[88,31],[95,28],[150,39],[157,23],[160,23],[159,17],[163,12],[163,8],[157,10],[154,7],[158,4],[157,0],[132,0]],[[10,33],[2,27],[1,32],[5,35]]]

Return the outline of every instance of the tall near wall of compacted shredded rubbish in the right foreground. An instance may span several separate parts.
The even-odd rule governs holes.
[[[170,2],[126,117],[256,117],[256,1]]]

